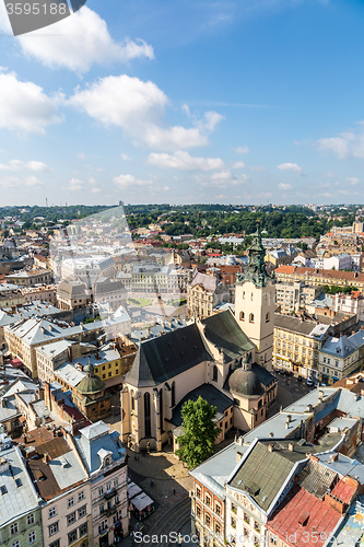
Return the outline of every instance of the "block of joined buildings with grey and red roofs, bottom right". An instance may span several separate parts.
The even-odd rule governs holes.
[[[190,472],[201,547],[344,542],[345,526],[361,522],[363,386],[355,377],[349,388],[315,389]],[[315,542],[317,533],[326,536]]]

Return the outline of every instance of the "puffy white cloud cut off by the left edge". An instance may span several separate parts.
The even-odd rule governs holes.
[[[14,72],[0,73],[0,129],[44,133],[58,121],[56,100],[39,85],[21,82]]]

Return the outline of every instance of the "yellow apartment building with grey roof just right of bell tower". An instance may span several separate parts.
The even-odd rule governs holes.
[[[274,314],[273,363],[317,377],[319,350],[328,330],[329,325],[315,321]]]

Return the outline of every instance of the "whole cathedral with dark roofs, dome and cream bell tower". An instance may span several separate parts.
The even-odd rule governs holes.
[[[228,310],[141,342],[121,391],[121,437],[137,452],[177,447],[181,407],[199,396],[216,407],[221,429],[249,431],[266,420],[277,396],[271,374],[274,279],[265,265],[259,224],[248,268]]]

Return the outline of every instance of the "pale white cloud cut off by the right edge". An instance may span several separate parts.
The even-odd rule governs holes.
[[[317,148],[321,151],[332,152],[340,160],[345,158],[360,158],[364,159],[364,131],[363,121],[360,123],[360,130],[342,132],[339,137],[329,137],[327,139],[319,139]]]

